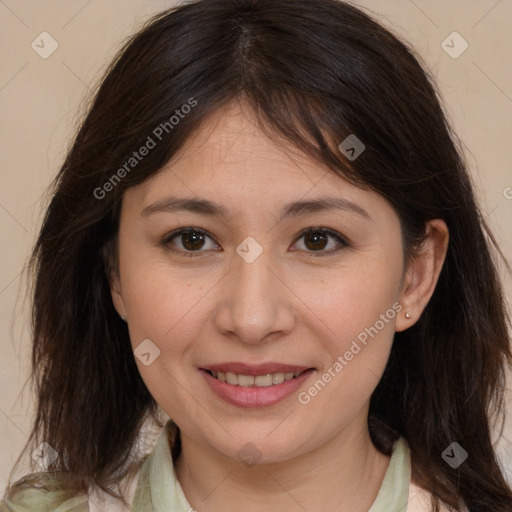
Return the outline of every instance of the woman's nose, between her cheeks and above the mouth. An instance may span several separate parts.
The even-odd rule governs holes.
[[[216,309],[219,332],[261,344],[292,331],[294,294],[276,268],[265,251],[252,263],[234,255]]]

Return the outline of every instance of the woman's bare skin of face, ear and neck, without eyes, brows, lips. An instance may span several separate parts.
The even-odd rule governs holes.
[[[141,214],[170,195],[218,202],[228,217]],[[327,196],[351,201],[368,217],[337,209],[279,220],[284,204]],[[167,236],[184,227],[208,234],[192,255],[184,255],[190,243],[183,237]],[[347,244],[329,236],[315,245],[300,235],[307,228],[330,228]],[[180,427],[176,471],[194,508],[370,508],[389,458],[371,443],[369,400],[394,332],[410,327],[433,293],[448,232],[434,220],[427,233],[405,269],[400,221],[389,203],[271,141],[238,102],[209,118],[159,173],[126,191],[112,297],[133,348],[150,339],[160,350],[149,366],[137,364]],[[248,236],[262,248],[252,263],[236,252]],[[236,407],[213,394],[199,371],[226,361],[305,365],[315,368],[299,391],[307,390],[396,303],[403,309],[306,405],[293,393],[269,407]],[[237,456],[246,443],[261,456],[251,467]]]

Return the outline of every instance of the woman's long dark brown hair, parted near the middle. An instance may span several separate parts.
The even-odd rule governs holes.
[[[384,196],[401,219],[406,254],[428,220],[448,225],[434,295],[417,323],[395,335],[372,395],[370,433],[386,454],[405,437],[413,478],[436,497],[436,510],[438,499],[454,508],[463,500],[472,512],[512,509],[491,443],[512,359],[496,244],[425,69],[405,42],[336,0],[197,1],[156,16],[126,43],[53,184],[30,262],[38,399],[31,440],[58,451],[50,471],[66,473],[77,491],[107,489],[126,474],[157,406],[110,295],[123,192],[240,98],[269,134]],[[191,99],[194,108],[106,191]],[[338,149],[350,134],[366,147],[351,162]],[[469,452],[457,469],[441,457],[454,441]]]

